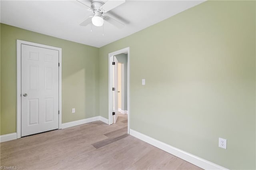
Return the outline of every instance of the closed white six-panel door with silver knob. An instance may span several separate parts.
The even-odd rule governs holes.
[[[58,50],[21,45],[21,136],[58,129]]]

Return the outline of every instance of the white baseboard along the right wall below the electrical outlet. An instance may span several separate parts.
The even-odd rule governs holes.
[[[140,140],[143,140],[144,142],[147,142],[153,146],[156,146],[157,148],[160,148],[170,154],[173,154],[174,156],[177,156],[183,160],[186,160],[187,162],[190,162],[191,164],[194,164],[200,168],[207,169],[207,170],[216,170],[216,169],[226,170],[227,169],[227,168],[224,168],[217,164],[214,164],[208,160],[205,160],[203,158],[200,158],[198,156],[195,156],[193,154],[190,154],[188,152],[185,152],[185,151],[175,148],[173,146],[170,146],[169,144],[166,144],[164,142],[161,142],[159,140],[151,138],[151,137],[149,137],[145,134],[142,134],[140,132],[137,132],[135,130],[130,129],[130,135],[132,135]]]

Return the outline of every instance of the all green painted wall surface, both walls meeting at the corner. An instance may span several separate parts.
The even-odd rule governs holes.
[[[0,134],[16,132],[17,39],[62,48],[62,123],[108,119],[108,53],[130,47],[133,130],[256,169],[255,30],[255,1],[207,1],[100,49],[1,24]]]

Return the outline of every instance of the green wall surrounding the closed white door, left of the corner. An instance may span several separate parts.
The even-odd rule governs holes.
[[[62,48],[62,123],[99,116],[98,48],[5,24],[0,27],[1,135],[16,132],[17,39]]]

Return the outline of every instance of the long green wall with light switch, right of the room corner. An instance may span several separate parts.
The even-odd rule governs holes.
[[[100,116],[108,118],[108,53],[130,47],[131,129],[226,168],[256,169],[255,11],[255,1],[207,1],[101,47]]]

